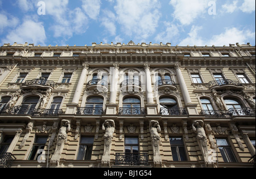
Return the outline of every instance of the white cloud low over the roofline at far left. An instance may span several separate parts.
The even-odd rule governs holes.
[[[15,30],[10,31],[2,43],[34,43],[46,45],[46,32],[43,23],[26,19]]]

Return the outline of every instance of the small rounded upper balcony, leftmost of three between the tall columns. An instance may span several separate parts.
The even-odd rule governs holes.
[[[86,90],[98,92],[107,92],[108,91],[108,82],[105,80],[94,79],[90,80],[86,86]]]

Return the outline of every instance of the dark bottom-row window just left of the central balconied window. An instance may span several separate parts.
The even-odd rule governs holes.
[[[79,145],[77,160],[90,160],[92,157],[94,138],[82,137]]]

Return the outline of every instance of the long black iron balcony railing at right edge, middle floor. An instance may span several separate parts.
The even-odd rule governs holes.
[[[230,118],[232,116],[255,116],[255,109],[250,107],[243,107],[240,109],[222,110],[202,110],[202,115],[208,118]]]

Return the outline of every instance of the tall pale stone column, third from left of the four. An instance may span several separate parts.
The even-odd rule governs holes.
[[[154,98],[152,93],[152,81],[150,75],[150,64],[144,64],[144,69],[146,73],[146,94],[147,94],[147,104],[154,104]]]

